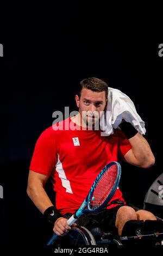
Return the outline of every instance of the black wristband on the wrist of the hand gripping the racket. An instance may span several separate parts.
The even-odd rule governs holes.
[[[54,224],[54,222],[57,221],[59,217],[62,217],[62,215],[54,206],[50,206],[43,213],[43,217],[48,223]]]

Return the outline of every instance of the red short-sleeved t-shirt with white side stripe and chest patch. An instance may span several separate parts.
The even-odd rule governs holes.
[[[118,161],[118,154],[124,156],[131,149],[121,130],[103,137],[101,130],[81,130],[80,126],[70,130],[67,127],[71,122],[67,118],[42,132],[30,163],[30,170],[52,175],[56,207],[62,215],[78,210],[104,166]],[[124,201],[119,188],[110,202],[115,200]]]

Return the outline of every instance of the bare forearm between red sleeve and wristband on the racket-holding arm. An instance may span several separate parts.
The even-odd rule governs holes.
[[[49,206],[53,205],[45,189],[41,185],[34,187],[28,186],[27,193],[35,206],[42,212],[42,214]]]

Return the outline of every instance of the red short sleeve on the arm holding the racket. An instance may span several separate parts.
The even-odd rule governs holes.
[[[35,145],[30,170],[45,175],[51,174],[57,162],[57,143],[54,134],[52,127],[41,133]]]

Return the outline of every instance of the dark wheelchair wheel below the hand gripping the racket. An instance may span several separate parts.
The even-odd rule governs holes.
[[[54,243],[53,247],[58,246],[83,246],[96,245],[96,241],[91,232],[85,227],[72,227],[65,236],[60,236]]]

